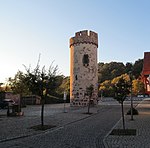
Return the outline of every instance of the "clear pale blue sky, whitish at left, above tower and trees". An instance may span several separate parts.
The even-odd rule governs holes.
[[[70,75],[69,39],[98,33],[98,62],[132,62],[150,51],[149,0],[0,0],[0,82],[26,67]]]

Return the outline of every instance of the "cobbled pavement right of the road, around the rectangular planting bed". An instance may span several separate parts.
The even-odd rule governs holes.
[[[143,100],[138,106],[139,115],[130,120],[130,116],[125,116],[126,129],[136,129],[136,136],[115,136],[109,135],[104,138],[106,148],[150,148],[150,100]],[[113,129],[122,129],[120,120]]]

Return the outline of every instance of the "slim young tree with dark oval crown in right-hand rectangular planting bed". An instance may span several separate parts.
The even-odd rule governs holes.
[[[121,77],[119,78],[118,82],[113,85],[113,89],[114,99],[116,99],[121,104],[123,129],[125,130],[123,102],[126,99],[127,95],[130,93],[130,83],[128,81],[125,81],[125,79]]]

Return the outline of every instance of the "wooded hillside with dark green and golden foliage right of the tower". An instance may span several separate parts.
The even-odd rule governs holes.
[[[133,76],[133,80],[138,81],[138,87],[136,87],[137,84],[133,87],[133,94],[137,95],[137,92],[144,93],[144,84],[138,80],[142,67],[143,59],[135,61],[134,64],[127,62],[126,65],[120,62],[98,63],[99,94],[103,92],[104,96],[112,97],[114,91],[112,85],[117,83],[121,77],[129,81],[130,74]]]

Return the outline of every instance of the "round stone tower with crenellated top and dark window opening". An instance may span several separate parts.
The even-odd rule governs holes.
[[[86,88],[94,87],[92,100],[97,103],[98,72],[97,72],[98,35],[93,31],[76,32],[70,38],[70,103],[72,106],[86,106],[88,96]]]

